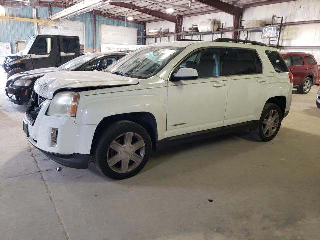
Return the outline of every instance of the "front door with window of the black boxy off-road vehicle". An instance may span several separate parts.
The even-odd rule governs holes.
[[[57,37],[38,36],[36,37],[29,53],[31,55],[33,68],[44,68],[60,65]]]

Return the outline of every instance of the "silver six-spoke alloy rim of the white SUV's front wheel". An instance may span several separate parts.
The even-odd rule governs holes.
[[[106,160],[113,171],[126,173],[134,170],[142,162],[144,154],[143,138],[137,133],[126,132],[112,141]]]

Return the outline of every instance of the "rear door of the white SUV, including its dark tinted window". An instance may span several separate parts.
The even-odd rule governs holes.
[[[225,130],[239,123],[254,124],[253,121],[260,117],[269,80],[262,75],[262,68],[255,49],[223,49],[222,76],[228,80]]]

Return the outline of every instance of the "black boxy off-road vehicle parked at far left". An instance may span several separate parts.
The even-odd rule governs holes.
[[[57,67],[80,55],[78,36],[37,35],[30,38],[23,51],[2,56],[1,66],[9,78],[23,71]]]

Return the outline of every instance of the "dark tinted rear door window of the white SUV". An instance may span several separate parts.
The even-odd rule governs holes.
[[[222,55],[222,75],[257,74],[262,63],[255,50],[226,48]]]

